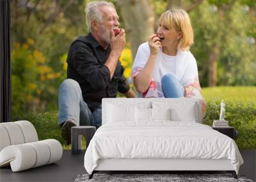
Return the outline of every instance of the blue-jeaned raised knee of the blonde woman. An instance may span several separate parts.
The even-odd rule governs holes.
[[[166,74],[161,79],[162,91],[164,98],[184,97],[184,87],[173,74]]]

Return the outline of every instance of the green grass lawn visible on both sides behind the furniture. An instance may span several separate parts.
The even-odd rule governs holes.
[[[239,131],[237,146],[243,149],[256,149],[256,87],[207,87],[202,89],[202,92],[207,102],[204,124],[212,125],[213,119],[219,118],[220,102],[225,100],[225,119],[230,121],[230,126]],[[12,120],[31,121],[39,139],[56,139],[61,142],[64,149],[70,149],[61,138],[58,111],[22,112],[13,116]]]

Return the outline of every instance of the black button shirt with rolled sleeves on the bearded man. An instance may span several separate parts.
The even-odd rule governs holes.
[[[110,50],[110,46],[104,50],[89,33],[77,38],[68,52],[67,78],[79,83],[84,102],[92,111],[100,107],[102,98],[115,98],[117,91],[127,93],[130,89],[120,61],[110,79],[109,69],[104,65]]]

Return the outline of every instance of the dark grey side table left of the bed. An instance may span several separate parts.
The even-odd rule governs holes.
[[[95,126],[73,126],[71,128],[71,153],[81,153],[81,139],[82,135],[86,139],[86,148],[89,146],[90,140],[96,131]]]

